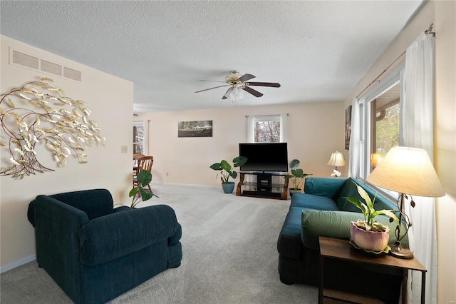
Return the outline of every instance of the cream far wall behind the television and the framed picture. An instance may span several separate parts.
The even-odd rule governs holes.
[[[216,186],[220,180],[209,166],[222,159],[231,163],[239,155],[238,144],[247,142],[246,116],[280,113],[289,113],[289,161],[298,158],[305,173],[331,176],[333,167],[326,163],[336,150],[348,158],[344,148],[345,108],[342,102],[144,113],[135,121],[150,120],[150,155],[154,156],[152,181]],[[213,121],[213,137],[177,137],[179,121],[199,120]],[[347,168],[340,169],[342,175],[347,176]]]

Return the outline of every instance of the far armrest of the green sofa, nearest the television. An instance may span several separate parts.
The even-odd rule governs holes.
[[[334,199],[341,192],[346,181],[347,178],[308,177],[304,182],[304,193]]]

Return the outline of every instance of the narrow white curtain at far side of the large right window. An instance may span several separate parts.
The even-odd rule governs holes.
[[[360,160],[361,121],[358,99],[351,101],[351,126],[350,126],[350,150],[348,161],[348,176],[358,178]]]

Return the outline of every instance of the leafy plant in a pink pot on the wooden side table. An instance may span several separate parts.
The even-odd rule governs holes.
[[[353,182],[355,183],[355,182]],[[347,198],[346,200],[350,203],[353,203],[356,207],[360,208],[364,218],[358,220],[356,222],[351,222],[350,227],[350,235],[351,240],[353,243],[358,246],[359,248],[363,248],[365,250],[370,250],[374,252],[381,252],[385,251],[388,252],[390,247],[388,246],[388,240],[390,238],[390,230],[388,226],[383,226],[378,221],[375,221],[376,216],[380,216],[380,214],[384,214],[390,217],[390,222],[395,221],[399,224],[399,219],[394,214],[394,210],[379,210],[375,211],[373,205],[375,203],[375,198],[377,197],[377,193],[371,201],[368,193],[363,189],[363,187],[359,186],[355,183],[356,187],[358,188],[358,193],[363,198],[366,203],[363,203],[358,198]]]

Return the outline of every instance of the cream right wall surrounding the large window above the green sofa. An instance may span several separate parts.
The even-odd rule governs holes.
[[[435,39],[435,170],[446,196],[437,198],[437,303],[456,300],[456,2],[428,1],[346,98],[351,103],[431,22]],[[404,58],[398,61],[398,64]],[[393,68],[392,68],[393,69]],[[390,69],[390,70],[392,70]],[[387,75],[387,74],[385,74]],[[381,78],[380,78],[381,79]],[[419,208],[417,206],[416,208]],[[450,302],[452,301],[452,302]]]

